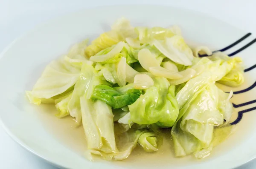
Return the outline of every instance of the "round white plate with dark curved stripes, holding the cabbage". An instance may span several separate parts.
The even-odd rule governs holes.
[[[191,156],[174,158],[171,151],[166,154],[160,151],[137,156],[134,153],[127,160],[118,162],[90,162],[84,158],[86,145],[82,128],[77,129],[70,118],[56,118],[54,106],[28,103],[24,91],[32,89],[47,63],[67,53],[72,44],[88,37],[93,39],[109,30],[110,25],[122,16],[130,19],[134,26],[167,27],[177,24],[190,45],[209,46],[212,51],[222,49],[247,34],[204,14],[162,6],[101,7],[52,20],[15,40],[0,56],[0,119],[9,135],[41,158],[70,169],[151,169],[156,166],[162,169],[230,169],[255,158],[255,111],[244,113],[236,132],[203,160]],[[226,53],[240,49],[251,40],[252,35]],[[244,59],[245,68],[256,63],[255,53],[256,44],[239,53]],[[245,83],[233,91],[251,86],[256,80],[255,71],[246,72]],[[235,95],[232,101],[240,104],[254,99],[256,87]],[[255,106],[256,103],[242,106],[236,112]],[[236,117],[237,113],[234,119]]]

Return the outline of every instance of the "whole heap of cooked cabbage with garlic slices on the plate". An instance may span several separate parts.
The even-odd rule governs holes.
[[[87,42],[49,63],[26,95],[83,126],[90,160],[123,160],[137,145],[161,151],[166,128],[175,156],[204,158],[233,133],[233,92],[215,83],[241,85],[241,58],[190,49],[178,26],[134,28],[125,18]]]

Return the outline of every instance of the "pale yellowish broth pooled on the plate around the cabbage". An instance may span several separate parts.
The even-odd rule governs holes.
[[[221,86],[221,85],[218,85]],[[242,85],[246,86],[246,85]],[[226,88],[227,89],[227,88]],[[253,99],[253,96],[246,95],[247,99]],[[250,98],[248,98],[250,97]],[[246,100],[247,100],[246,99]],[[241,96],[232,98],[233,103],[241,103]],[[250,107],[250,105],[248,105]],[[246,108],[248,106],[245,106]],[[254,105],[255,106],[255,105]],[[232,120],[236,119],[237,112],[244,107],[234,110]],[[55,106],[42,104],[38,106],[39,118],[42,118],[42,123],[45,128],[49,131],[52,137],[55,137],[59,143],[63,144],[67,148],[73,150],[81,156],[84,156],[86,151],[86,139],[82,126],[77,127],[73,119],[69,117],[64,117],[59,119],[54,116],[57,113]],[[48,112],[48,113],[46,113]],[[252,114],[252,113],[251,113]],[[253,114],[254,115],[254,114]],[[251,117],[251,115],[250,115]],[[190,165],[192,163],[201,163],[204,160],[210,160],[217,157],[220,153],[225,153],[226,151],[232,149],[234,146],[239,145],[244,139],[247,139],[250,135],[251,125],[254,123],[254,118],[249,118],[248,115],[244,115],[240,123],[236,125],[236,132],[231,135],[227,140],[225,140],[220,145],[216,146],[211,155],[205,159],[197,159],[192,155],[175,158],[173,151],[173,142],[170,135],[170,130],[167,129],[164,134],[163,145],[160,147],[159,152],[147,153],[140,146],[137,146],[131,155],[122,161],[114,161],[114,166],[140,166],[140,168],[147,168],[148,166],[166,166],[170,163],[175,163],[175,166]],[[49,125],[50,124],[50,125]],[[245,130],[246,129],[246,130]],[[145,163],[147,165],[145,165]]]

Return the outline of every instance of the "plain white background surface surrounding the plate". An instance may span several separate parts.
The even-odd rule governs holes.
[[[163,4],[200,11],[256,33],[255,0],[0,0],[0,52],[15,38],[49,19],[90,7],[128,3]],[[19,168],[57,169],[21,148],[0,126],[0,169]],[[256,169],[256,160],[237,169]]]

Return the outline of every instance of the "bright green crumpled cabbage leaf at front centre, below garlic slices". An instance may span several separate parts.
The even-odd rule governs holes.
[[[137,124],[154,124],[172,127],[179,114],[175,99],[175,86],[170,86],[163,77],[154,79],[154,86],[129,105],[131,121]]]

